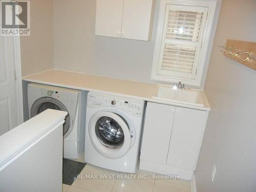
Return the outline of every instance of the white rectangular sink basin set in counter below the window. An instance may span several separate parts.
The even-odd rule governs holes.
[[[152,98],[181,104],[204,106],[203,91],[200,90],[175,90],[172,86],[158,85],[158,89]]]

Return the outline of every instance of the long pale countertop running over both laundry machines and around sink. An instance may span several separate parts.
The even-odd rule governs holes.
[[[194,106],[154,99],[152,97],[157,91],[157,84],[153,83],[103,77],[58,69],[51,69],[25,76],[23,77],[23,80],[77,90],[115,94],[124,97],[128,96],[130,98],[141,99],[145,101],[182,106],[204,111],[210,110],[210,106],[207,98],[205,97],[205,94],[203,94],[204,106]]]

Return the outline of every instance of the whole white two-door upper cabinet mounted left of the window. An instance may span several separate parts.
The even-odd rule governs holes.
[[[151,40],[155,0],[97,0],[95,34]]]

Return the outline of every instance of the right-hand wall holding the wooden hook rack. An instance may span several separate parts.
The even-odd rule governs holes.
[[[197,192],[256,191],[256,71],[218,48],[228,38],[256,41],[255,10],[255,0],[223,0],[205,83],[212,111],[196,170]]]

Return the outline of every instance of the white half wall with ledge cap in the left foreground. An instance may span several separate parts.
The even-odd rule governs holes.
[[[61,134],[66,115],[46,110],[0,136],[1,192],[62,191]]]

